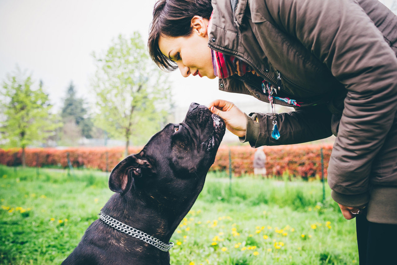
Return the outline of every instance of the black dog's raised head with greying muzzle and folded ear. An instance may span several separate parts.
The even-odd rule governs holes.
[[[222,118],[192,103],[183,122],[168,124],[112,170],[109,188],[162,203],[198,195],[224,133]]]

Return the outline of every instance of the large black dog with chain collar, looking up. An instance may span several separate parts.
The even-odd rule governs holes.
[[[116,193],[62,265],[169,265],[168,242],[202,190],[224,133],[219,116],[192,103],[182,123],[168,124],[112,170]],[[143,233],[164,242],[157,244],[163,250]]]

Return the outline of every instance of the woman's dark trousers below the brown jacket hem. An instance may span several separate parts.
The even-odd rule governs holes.
[[[365,211],[356,228],[360,265],[397,265],[397,224],[369,222]]]

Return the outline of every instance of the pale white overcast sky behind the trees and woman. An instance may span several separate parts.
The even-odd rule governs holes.
[[[381,2],[390,8],[393,1]],[[104,52],[120,33],[130,37],[131,32],[139,31],[146,42],[154,2],[0,0],[0,80],[18,65],[36,80],[42,79],[57,108],[71,80],[78,95],[89,99],[89,78],[95,71],[90,54]],[[251,96],[218,91],[218,79],[204,77],[197,82],[198,78],[183,78],[178,70],[171,74],[173,100],[179,107],[217,98],[258,102]]]

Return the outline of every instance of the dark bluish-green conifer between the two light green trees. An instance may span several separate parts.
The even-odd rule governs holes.
[[[72,118],[75,121],[77,127],[80,129],[81,135],[86,138],[91,138],[93,122],[91,121],[91,118],[88,116],[87,112],[87,108],[84,107],[84,99],[77,98],[75,86],[73,85],[73,82],[70,82],[69,88],[66,91],[64,106],[61,111],[62,119],[64,120],[66,126],[66,123],[70,125]],[[68,131],[68,129],[64,130],[64,132]],[[69,135],[69,138],[70,136],[71,135]],[[76,137],[75,134],[73,134],[73,138],[74,137]]]

